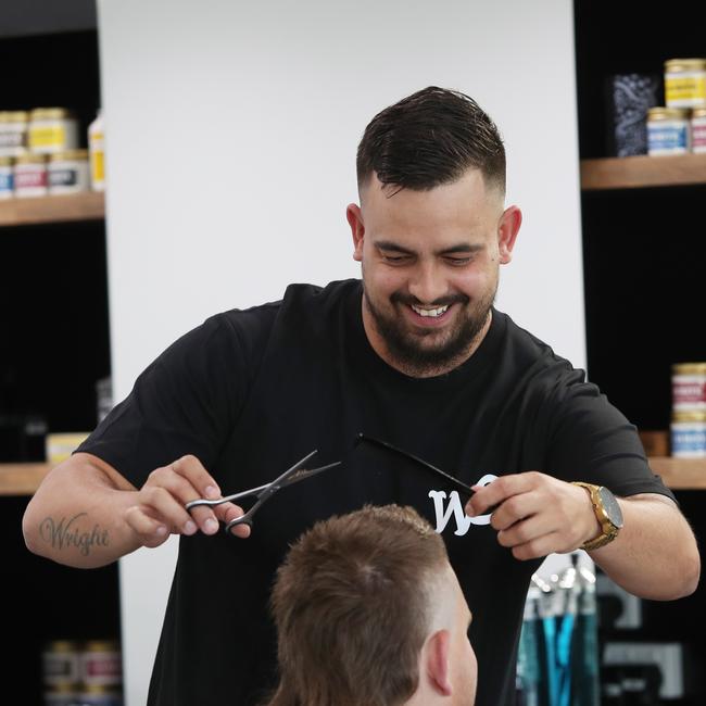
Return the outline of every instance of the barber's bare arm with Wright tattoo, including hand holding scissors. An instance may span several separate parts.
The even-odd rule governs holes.
[[[214,534],[217,520],[243,513],[232,503],[214,508],[186,503],[220,497],[220,490],[194,456],[184,456],[150,474],[135,488],[98,456],[76,453],[45,477],[22,518],[27,549],[78,568],[105,566],[140,546],[159,546],[171,534]],[[248,537],[248,526],[232,530]]]

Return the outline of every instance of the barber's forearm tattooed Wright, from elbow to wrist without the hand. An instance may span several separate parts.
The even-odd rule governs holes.
[[[136,491],[118,489],[99,468],[75,457],[54,468],[22,520],[29,551],[59,564],[96,568],[139,546],[123,519]]]

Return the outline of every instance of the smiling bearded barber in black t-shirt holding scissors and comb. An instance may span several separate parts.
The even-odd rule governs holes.
[[[547,554],[583,547],[653,600],[698,581],[693,533],[635,428],[493,306],[521,215],[505,205],[490,117],[463,93],[420,90],[369,123],[357,181],[346,217],[362,281],[292,285],[279,302],[209,318],[25,513],[28,547],[70,566],[181,535],[149,706],[261,703],[276,682],[277,567],[315,522],[366,504],[409,505],[441,534],[474,614],[477,706],[514,705],[525,597]],[[465,513],[443,475],[353,453],[358,432],[478,483]],[[312,449],[322,465],[345,463],[273,495],[252,531],[219,531],[242,514],[231,503],[185,508],[262,486]],[[68,525],[101,542],[47,531]]]

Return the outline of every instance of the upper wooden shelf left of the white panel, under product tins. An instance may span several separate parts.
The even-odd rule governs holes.
[[[104,217],[105,197],[100,191],[0,201],[0,227]]]

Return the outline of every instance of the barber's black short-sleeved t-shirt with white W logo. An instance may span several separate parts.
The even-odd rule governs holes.
[[[345,463],[275,494],[252,537],[181,537],[150,686],[152,706],[245,706],[276,682],[268,616],[274,572],[316,520],[366,503],[413,505],[446,543],[474,614],[477,706],[514,704],[529,579],[487,518],[465,517],[445,481],[370,446],[392,443],[467,484],[526,470],[584,480],[618,495],[671,493],[647,466],[635,429],[581,370],[494,311],[476,353],[452,373],[407,377],[371,349],[358,280],[294,285],[281,302],[207,319],[138,378],[79,451],[141,487],[184,454],[224,494],[274,479],[318,450]],[[146,587],[149,590],[149,587]]]

